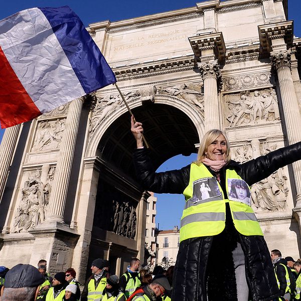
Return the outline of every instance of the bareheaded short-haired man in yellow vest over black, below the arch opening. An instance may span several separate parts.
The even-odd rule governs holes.
[[[127,267],[127,271],[120,277],[119,286],[127,298],[141,284],[141,278],[138,272],[139,266],[140,260],[138,258],[132,258]]]

